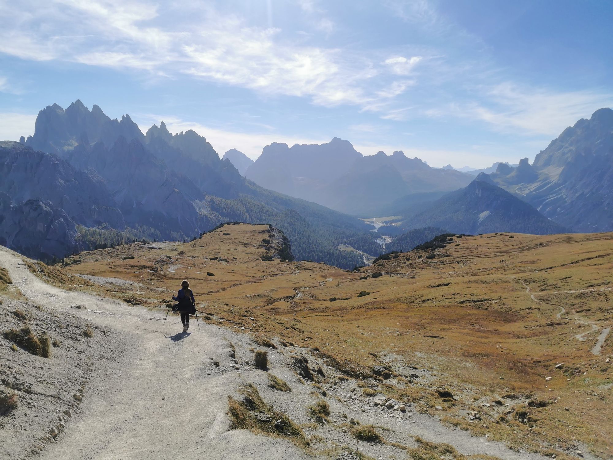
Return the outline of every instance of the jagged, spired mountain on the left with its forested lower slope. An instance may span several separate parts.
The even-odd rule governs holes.
[[[334,142],[337,147],[348,145],[352,150],[348,142],[338,141]],[[56,180],[56,187],[55,179],[42,177],[44,169],[40,167],[55,171],[53,161],[45,159],[47,163],[40,163],[34,158],[51,156],[40,152],[34,155],[29,147],[16,144],[16,148],[27,149],[29,153],[10,157],[8,166],[0,171],[0,183],[15,194],[10,174],[17,167],[23,172],[15,176],[23,185],[18,198],[27,199],[28,187],[37,182],[39,188],[33,187],[31,192],[39,190],[41,196],[40,200],[25,203],[3,196],[6,215],[0,218],[6,236],[10,232],[21,235],[20,248],[29,243],[29,255],[59,257],[65,255],[63,251],[75,248],[104,247],[142,238],[189,239],[224,221],[237,220],[267,222],[280,228],[291,240],[292,252],[298,259],[351,268],[362,263],[362,256],[354,251],[341,251],[341,245],[350,244],[375,256],[381,250],[376,235],[368,231],[370,226],[363,221],[246,180],[230,161],[219,158],[204,137],[191,130],[171,134],[162,122],[151,126],[143,136],[128,115],[121,121],[111,120],[97,105],[90,111],[75,101],[66,110],[57,104],[41,110],[34,136],[22,142],[57,154],[61,159],[54,156],[55,161],[73,171],[78,179],[71,182],[67,175],[66,182]],[[354,154],[360,156],[355,151]],[[87,177],[92,178],[93,185],[83,190],[80,184]],[[96,201],[93,195],[96,184],[101,187],[101,197],[110,201],[108,217],[100,218],[97,203],[102,201]],[[70,194],[70,190],[77,196]],[[126,230],[120,231],[124,222]],[[40,232],[32,231],[36,229],[53,230],[53,238],[63,234],[61,244],[51,245],[56,248],[53,253],[44,249],[49,245]],[[59,233],[54,229],[59,229]],[[16,245],[17,239],[11,238]],[[12,247],[18,248],[15,245]]]

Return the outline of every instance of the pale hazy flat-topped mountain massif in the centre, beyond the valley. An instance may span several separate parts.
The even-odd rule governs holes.
[[[471,176],[436,169],[402,151],[362,156],[346,140],[328,144],[270,144],[247,169],[259,185],[364,217],[411,193],[451,191]]]

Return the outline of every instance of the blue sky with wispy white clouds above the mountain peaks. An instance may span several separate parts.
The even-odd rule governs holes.
[[[342,137],[516,163],[613,106],[613,2],[0,0],[0,138],[81,99],[223,155]]]

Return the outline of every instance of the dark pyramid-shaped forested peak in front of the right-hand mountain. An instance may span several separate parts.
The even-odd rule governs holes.
[[[487,174],[480,174],[465,188],[432,202],[427,210],[411,216],[403,226],[409,229],[434,226],[466,234],[500,231],[550,234],[565,231],[531,205],[494,185]]]

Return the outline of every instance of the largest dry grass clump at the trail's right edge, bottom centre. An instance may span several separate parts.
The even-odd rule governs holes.
[[[289,439],[302,448],[308,447],[305,434],[285,413],[268,407],[257,388],[251,383],[238,389],[238,393],[245,396],[243,401],[236,401],[228,397],[230,415],[230,429],[248,429],[256,434],[266,434]],[[261,422],[256,418],[257,413],[265,413],[270,416],[270,422]],[[280,429],[275,427],[275,422],[280,420]]]

